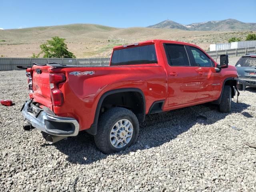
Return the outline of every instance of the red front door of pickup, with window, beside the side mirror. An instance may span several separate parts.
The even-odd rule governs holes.
[[[215,70],[214,62],[200,49],[186,46],[190,63],[196,66],[198,74],[198,94],[196,100],[217,98],[222,84],[221,74]]]

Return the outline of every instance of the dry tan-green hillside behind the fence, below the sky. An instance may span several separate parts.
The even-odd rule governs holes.
[[[191,31],[186,30],[186,26],[179,26],[174,22],[171,22],[173,28],[164,27],[168,26],[168,23],[170,22],[162,23],[161,28],[114,28],[96,24],[70,24],[0,30],[0,56],[31,57],[32,53],[41,51],[40,44],[54,36],[65,38],[68,49],[76,57],[102,57],[110,56],[113,46],[150,39],[190,42],[208,50],[210,44],[227,42],[233,36],[244,40],[248,34],[248,31]],[[193,28],[202,28],[202,25],[194,24]]]

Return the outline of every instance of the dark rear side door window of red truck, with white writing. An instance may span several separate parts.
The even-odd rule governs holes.
[[[170,66],[190,66],[184,45],[164,44],[164,49]]]

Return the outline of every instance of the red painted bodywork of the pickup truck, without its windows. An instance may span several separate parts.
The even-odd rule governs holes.
[[[155,44],[158,64],[69,68],[34,65],[32,67],[34,92],[30,93],[30,98],[33,98],[33,102],[41,104],[41,107],[50,108],[57,116],[75,118],[79,122],[80,130],[86,130],[94,122],[100,97],[107,91],[120,88],[142,90],[146,99],[146,114],[148,114],[150,106],[158,100],[165,100],[162,106],[163,111],[217,100],[224,80],[237,77],[234,66],[228,66],[218,73],[214,67],[170,66],[164,51],[164,43],[195,46],[167,40],[140,42],[138,46]],[[198,46],[195,47],[200,49]],[[123,48],[123,46],[117,46],[114,50]],[[217,65],[213,59],[212,62],[215,66]],[[42,73],[37,74],[36,69],[40,69]],[[94,71],[95,73],[70,75],[70,72],[75,71]],[[63,93],[63,104],[60,106],[53,106],[51,100],[49,74],[54,73],[63,73],[66,76],[66,80],[58,84],[58,90]],[[215,85],[212,86],[212,84]]]

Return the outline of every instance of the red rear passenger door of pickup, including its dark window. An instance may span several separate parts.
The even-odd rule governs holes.
[[[198,90],[198,73],[190,65],[186,48],[182,44],[164,44],[168,74],[168,105],[194,102]]]

